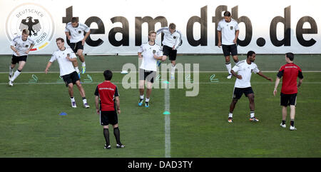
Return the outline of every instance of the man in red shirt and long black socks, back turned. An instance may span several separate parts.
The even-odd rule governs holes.
[[[103,136],[106,140],[106,144],[103,148],[111,148],[108,131],[109,123],[113,125],[113,134],[115,135],[117,142],[116,148],[124,148],[125,146],[121,143],[121,133],[118,128],[118,114],[121,113],[118,88],[111,83],[111,78],[113,77],[111,71],[103,71],[103,76],[105,77],[105,81],[98,84],[95,91],[96,112],[100,115],[101,126],[103,126]],[[101,99],[101,108],[98,106],[99,98]]]

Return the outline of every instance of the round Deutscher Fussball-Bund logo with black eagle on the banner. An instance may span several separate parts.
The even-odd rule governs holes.
[[[29,30],[29,38],[35,43],[31,51],[39,51],[48,46],[54,36],[54,19],[49,11],[38,4],[21,4],[6,19],[6,36],[11,42],[24,29]]]

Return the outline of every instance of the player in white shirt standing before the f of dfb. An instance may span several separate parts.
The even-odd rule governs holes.
[[[238,63],[238,49],[236,43],[238,41],[238,34],[240,29],[238,22],[231,18],[230,12],[225,11],[224,19],[218,22],[218,47],[222,46],[223,54],[225,56],[225,66],[228,69],[228,79],[232,77],[230,69],[230,55],[233,56],[233,60]]]

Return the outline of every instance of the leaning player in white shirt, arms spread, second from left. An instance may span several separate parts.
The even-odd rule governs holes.
[[[89,108],[86,100],[85,90],[83,89],[83,86],[81,86],[76,70],[73,68],[72,62],[77,60],[76,55],[73,53],[72,49],[64,46],[65,43],[62,38],[56,39],[56,44],[58,46],[58,50],[54,51],[54,54],[52,54],[51,59],[49,60],[45,69],[46,74],[48,73],[52,62],[58,61],[60,76],[63,78],[63,81],[65,81],[66,86],[68,86],[68,93],[71,98],[71,107],[77,107],[75,98],[73,97],[73,84],[76,84],[78,90],[80,91],[81,97],[83,98],[83,106],[85,108]]]

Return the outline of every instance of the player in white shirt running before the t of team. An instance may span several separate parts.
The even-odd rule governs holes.
[[[86,32],[85,36],[83,36],[83,32]],[[86,26],[86,24],[79,23],[78,18],[73,17],[71,18],[71,22],[66,25],[65,33],[67,38],[70,40],[70,48],[73,49],[73,52],[78,55],[79,60],[82,62],[81,74],[85,74],[86,63],[85,57],[83,56],[83,45],[85,45],[85,41],[91,33],[91,29]],[[78,62],[74,61],[73,66],[80,77]]]

